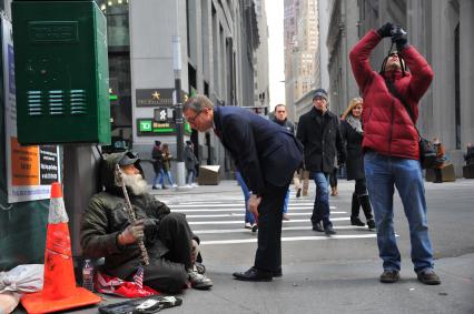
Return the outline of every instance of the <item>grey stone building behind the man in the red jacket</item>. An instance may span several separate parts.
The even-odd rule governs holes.
[[[330,6],[327,45],[332,101],[344,103],[343,109],[350,97],[358,94],[348,63],[352,47],[368,30],[378,29],[387,21],[403,26],[408,42],[435,72],[431,88],[419,102],[417,126],[424,136],[443,142],[461,176],[463,153],[467,143],[474,142],[474,61],[470,55],[474,49],[474,2],[334,0]],[[391,42],[384,40],[374,50],[373,69],[379,69],[389,47]]]

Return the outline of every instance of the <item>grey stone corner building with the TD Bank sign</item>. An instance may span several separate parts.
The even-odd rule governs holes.
[[[256,68],[256,62],[263,64],[260,59],[267,59],[264,51],[268,49],[261,1],[97,2],[108,21],[111,91],[118,99],[111,111],[112,136],[130,143],[144,160],[150,159],[155,140],[169,143],[176,155],[172,112],[177,78],[181,102],[196,93],[220,105],[254,105],[256,98],[268,101],[268,67]],[[259,23],[265,23],[263,36]],[[179,57],[174,40],[179,40]],[[265,44],[258,54],[260,42]],[[198,134],[186,124],[185,140],[195,143],[201,164],[224,165],[223,174],[230,170],[214,133]],[[150,164],[145,168],[152,179]]]

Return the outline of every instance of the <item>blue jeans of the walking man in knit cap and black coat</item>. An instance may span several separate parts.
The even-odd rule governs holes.
[[[313,207],[312,223],[313,226],[323,221],[323,226],[332,226],[329,220],[329,191],[327,189],[328,174],[324,172],[313,172],[316,183],[316,197]]]

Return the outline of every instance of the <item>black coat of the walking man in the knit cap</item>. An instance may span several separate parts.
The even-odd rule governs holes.
[[[332,173],[334,159],[346,160],[339,119],[330,111],[322,114],[314,107],[299,118],[297,138],[305,146],[305,169]]]

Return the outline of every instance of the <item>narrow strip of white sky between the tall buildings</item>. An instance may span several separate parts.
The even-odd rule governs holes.
[[[270,108],[285,103],[285,62],[283,48],[283,0],[265,0],[268,23],[268,68]]]

